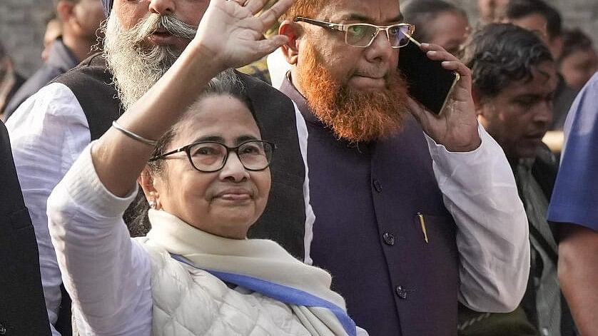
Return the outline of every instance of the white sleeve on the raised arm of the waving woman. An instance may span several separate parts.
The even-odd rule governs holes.
[[[136,190],[118,198],[83,150],[48,199],[49,232],[81,335],[150,335],[150,264],[122,215]]]

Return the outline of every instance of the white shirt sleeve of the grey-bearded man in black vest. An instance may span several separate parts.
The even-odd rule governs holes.
[[[61,275],[48,233],[46,201],[51,190],[89,143],[85,114],[74,94],[60,83],[41,88],[6,122],[16,173],[34,225],[41,284],[54,330],[61,302]]]

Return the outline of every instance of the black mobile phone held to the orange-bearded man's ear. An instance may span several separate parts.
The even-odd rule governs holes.
[[[442,68],[440,61],[427,58],[420,42],[409,39],[399,51],[399,69],[407,81],[409,94],[430,112],[440,114],[460,75]]]

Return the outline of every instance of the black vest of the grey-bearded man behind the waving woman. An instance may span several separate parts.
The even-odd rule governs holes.
[[[238,76],[253,104],[262,138],[276,143],[278,147],[270,165],[272,187],[268,205],[250,229],[249,237],[275,240],[296,258],[303,260],[305,166],[299,148],[293,102],[280,91],[255,78],[242,73],[238,73]],[[63,83],[76,96],[87,118],[91,140],[102,136],[111,127],[112,121],[123,113],[112,74],[106,69],[106,61],[101,54],[90,56],[54,82]],[[143,198],[143,193],[139,196]],[[133,213],[133,207],[129,207],[128,212]],[[125,218],[130,217],[126,214]],[[146,233],[129,226],[131,228],[136,235]],[[63,292],[63,298],[59,322],[68,320],[70,325],[70,300],[66,292]]]

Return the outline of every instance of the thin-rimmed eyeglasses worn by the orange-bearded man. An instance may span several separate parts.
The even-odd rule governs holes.
[[[297,17],[295,22],[305,22],[332,30],[345,32],[345,43],[358,48],[367,48],[372,44],[380,31],[386,32],[386,37],[392,48],[400,48],[409,43],[409,37],[415,31],[412,24],[391,24],[390,26],[376,26],[375,24],[333,24],[304,17]]]

